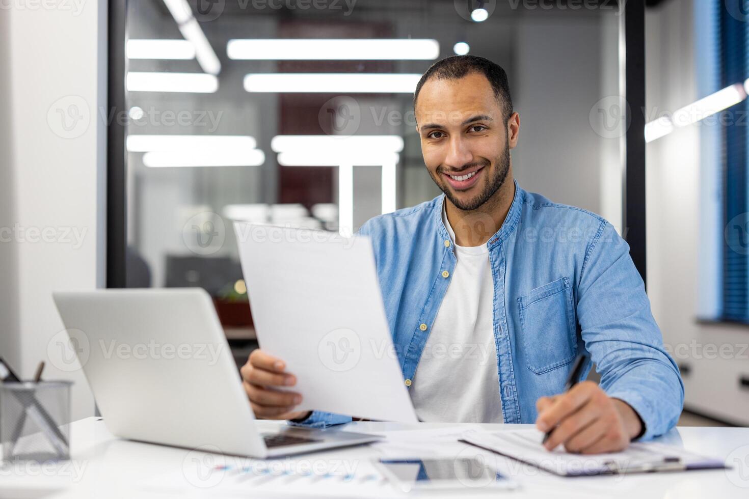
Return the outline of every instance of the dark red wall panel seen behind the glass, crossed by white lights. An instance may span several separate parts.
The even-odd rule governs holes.
[[[284,21],[279,38],[391,38],[386,23],[345,21]],[[279,61],[279,73],[392,73],[392,61]],[[339,94],[280,94],[279,135],[323,135],[318,114],[322,106]],[[371,94],[352,94],[352,97]],[[328,124],[328,127],[330,125]],[[308,209],[315,203],[336,203],[336,171],[328,167],[286,167],[279,165],[279,203],[302,203]]]

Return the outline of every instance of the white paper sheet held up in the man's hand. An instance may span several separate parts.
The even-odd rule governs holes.
[[[416,422],[368,237],[234,222],[261,348],[297,376],[297,410]]]

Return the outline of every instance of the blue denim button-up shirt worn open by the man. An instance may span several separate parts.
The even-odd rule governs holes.
[[[443,200],[440,195],[377,216],[360,230],[372,238],[407,386],[455,268]],[[570,364],[584,350],[601,374],[601,388],[640,415],[643,439],[676,424],[684,402],[679,369],[664,349],[629,246],[609,222],[525,192],[515,182],[512,205],[488,248],[505,423],[535,423],[536,400],[564,391]],[[591,367],[589,361],[581,379]],[[300,424],[325,427],[350,420],[313,411]]]

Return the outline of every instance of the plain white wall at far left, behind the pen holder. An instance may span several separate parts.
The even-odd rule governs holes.
[[[104,284],[106,2],[10,4],[24,8],[0,10],[0,228],[19,230],[0,243],[0,346],[22,376],[45,360],[46,379],[73,380],[78,419],[94,412],[82,372],[47,352],[63,330],[52,291]],[[82,118],[66,129],[68,111]]]

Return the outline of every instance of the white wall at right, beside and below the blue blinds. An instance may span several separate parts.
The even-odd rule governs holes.
[[[703,3],[703,5],[700,5]],[[646,17],[646,108],[674,111],[705,95],[698,91],[695,50],[697,22],[710,23],[706,2],[667,1]],[[697,6],[695,14],[694,6]],[[648,144],[647,257],[648,295],[664,341],[679,364],[691,367],[683,376],[685,407],[735,423],[749,424],[749,393],[738,378],[749,376],[749,328],[708,325],[697,321],[700,287],[709,283],[700,274],[709,264],[700,252],[700,232],[718,162],[701,156],[706,137],[715,132],[706,124],[676,129]],[[715,224],[705,224],[715,227]],[[703,247],[704,249],[704,247]],[[722,350],[721,350],[722,349]],[[723,352],[721,354],[721,352]]]

